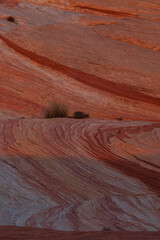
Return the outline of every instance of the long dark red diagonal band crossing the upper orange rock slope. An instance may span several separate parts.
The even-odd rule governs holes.
[[[9,39],[6,39],[2,35],[0,35],[0,39],[3,40],[9,47],[13,48],[15,51],[17,51],[20,54],[23,54],[29,59],[36,61],[37,63],[42,64],[46,67],[50,67],[52,70],[59,71],[69,77],[75,78],[77,81],[80,81],[88,86],[98,88],[102,91],[106,91],[120,97],[125,97],[128,99],[153,104],[158,107],[160,106],[159,98],[155,98],[147,94],[144,94],[138,91],[135,87],[121,83],[113,83],[109,80],[97,77],[93,74],[84,73],[81,72],[80,70],[64,66],[60,63],[56,63],[46,57],[40,56],[36,53],[33,53],[29,50],[26,50],[16,45],[14,42],[10,41]]]

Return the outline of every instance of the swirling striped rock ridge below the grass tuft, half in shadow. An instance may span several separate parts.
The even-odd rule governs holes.
[[[159,123],[0,121],[0,225],[160,230],[159,144]]]

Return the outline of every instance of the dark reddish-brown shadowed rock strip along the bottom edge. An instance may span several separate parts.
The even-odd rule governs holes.
[[[0,227],[0,237],[3,239],[48,239],[48,240],[158,240],[159,232],[62,232],[50,229],[24,228],[24,227]]]

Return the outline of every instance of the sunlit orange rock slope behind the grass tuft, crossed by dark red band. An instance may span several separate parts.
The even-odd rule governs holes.
[[[1,1],[0,116],[160,119],[158,1]],[[15,23],[6,21],[15,17]]]

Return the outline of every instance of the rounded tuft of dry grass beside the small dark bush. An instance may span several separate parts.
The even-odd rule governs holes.
[[[68,117],[68,108],[64,104],[50,104],[45,112],[45,118],[66,118]]]

